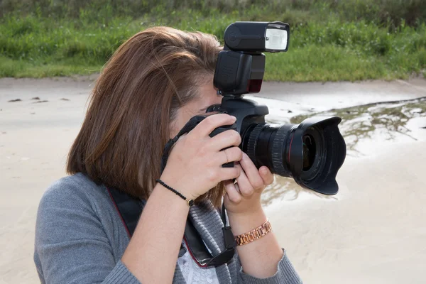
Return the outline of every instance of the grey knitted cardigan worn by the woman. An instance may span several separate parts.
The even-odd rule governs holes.
[[[213,255],[224,249],[222,220],[211,204],[191,207],[190,218]],[[40,200],[34,261],[42,283],[139,283],[120,260],[128,244],[106,187],[86,176],[58,180]],[[216,273],[221,284],[302,283],[285,253],[271,278],[244,273],[237,255]],[[173,283],[185,284],[178,265]]]

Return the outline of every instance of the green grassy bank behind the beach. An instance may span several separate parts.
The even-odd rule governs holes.
[[[290,23],[290,49],[267,54],[266,80],[392,80],[426,69],[426,1],[61,2],[2,2],[0,77],[99,72],[123,40],[148,26],[222,38],[233,21],[271,20]]]

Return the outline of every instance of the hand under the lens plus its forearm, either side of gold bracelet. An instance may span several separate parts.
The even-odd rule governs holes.
[[[226,182],[225,207],[234,236],[244,234],[266,222],[261,207],[261,194],[271,185],[273,175],[262,166],[257,169],[249,156],[243,154],[239,163],[241,175],[234,182]],[[278,271],[283,250],[273,231],[244,246],[237,246],[239,260],[246,275],[270,278]]]

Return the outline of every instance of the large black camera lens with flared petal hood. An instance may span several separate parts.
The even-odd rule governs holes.
[[[251,124],[242,135],[241,148],[258,168],[266,165],[302,187],[333,195],[338,190],[337,171],[346,157],[340,121],[334,116],[301,124]]]

